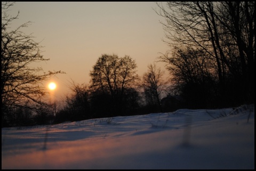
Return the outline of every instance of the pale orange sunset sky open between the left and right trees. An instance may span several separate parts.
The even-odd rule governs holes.
[[[60,99],[69,91],[70,82],[89,84],[90,71],[102,54],[129,55],[142,76],[147,66],[169,47],[163,42],[164,30],[155,2],[15,2],[9,14],[19,19],[11,27],[31,21],[22,29],[33,33],[43,46],[44,71],[63,71],[45,82],[57,83],[52,91]],[[158,67],[164,69],[163,63]]]

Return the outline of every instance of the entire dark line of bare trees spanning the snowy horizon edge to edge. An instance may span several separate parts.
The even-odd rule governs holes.
[[[61,72],[38,76],[27,66],[45,59],[31,37],[7,31],[15,18],[3,15],[2,3],[2,127],[254,104],[254,2],[157,4],[170,45],[157,59],[170,79],[156,63],[140,77],[130,56],[102,54],[90,84],[73,82],[58,108],[41,100],[43,88],[35,83]]]

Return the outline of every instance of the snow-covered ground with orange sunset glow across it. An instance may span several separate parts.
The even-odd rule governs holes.
[[[2,169],[254,169],[254,104],[2,128]]]

